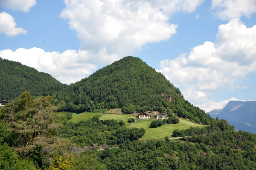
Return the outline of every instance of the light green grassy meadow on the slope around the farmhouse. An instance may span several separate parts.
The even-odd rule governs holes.
[[[71,122],[77,123],[79,121],[86,121],[89,118],[93,118],[93,116],[99,115],[100,120],[107,120],[107,119],[115,119],[120,121],[121,119],[125,122],[125,127],[132,128],[143,127],[145,129],[145,135],[141,138],[141,140],[148,140],[148,139],[163,139],[166,136],[172,137],[172,132],[175,129],[183,130],[188,129],[189,127],[204,127],[203,125],[195,124],[190,121],[186,121],[180,119],[178,124],[163,124],[161,127],[157,128],[150,128],[150,123],[153,119],[148,120],[140,120],[135,119],[136,123],[128,123],[129,118],[135,118],[134,115],[117,115],[117,114],[103,114],[103,113],[92,113],[92,112],[83,112],[80,114],[73,115]]]

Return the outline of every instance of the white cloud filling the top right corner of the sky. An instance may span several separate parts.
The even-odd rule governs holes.
[[[211,9],[221,20],[250,17],[256,13],[256,0],[212,0]]]

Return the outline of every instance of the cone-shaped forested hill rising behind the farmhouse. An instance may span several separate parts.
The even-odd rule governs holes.
[[[72,112],[122,108],[122,112],[158,111],[207,124],[210,117],[192,106],[178,88],[140,58],[125,57],[58,93]],[[171,111],[172,109],[172,111]]]

